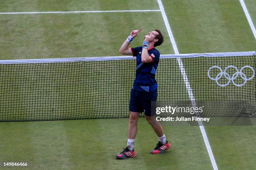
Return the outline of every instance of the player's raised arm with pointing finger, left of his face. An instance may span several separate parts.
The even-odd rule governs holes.
[[[123,42],[123,44],[120,47],[120,49],[119,49],[120,54],[133,55],[131,48],[129,48],[129,45],[130,45],[131,41],[133,40],[133,38],[135,38],[138,35],[138,33],[141,31],[141,29],[142,28],[140,28],[139,30],[133,30],[131,32],[131,34],[129,35],[127,40],[125,40],[125,42]]]

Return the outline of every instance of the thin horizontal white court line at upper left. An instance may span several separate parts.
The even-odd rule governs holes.
[[[49,12],[13,12],[0,14],[70,14],[70,13],[124,13],[124,12],[159,12],[161,10],[107,10],[107,11],[49,11]]]

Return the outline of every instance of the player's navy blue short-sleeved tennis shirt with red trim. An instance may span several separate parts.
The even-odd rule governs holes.
[[[160,52],[155,47],[151,47],[148,49],[148,55],[152,58],[152,62],[143,63],[141,62],[142,46],[131,48],[131,51],[133,56],[136,56],[136,76],[133,89],[146,92],[157,91],[155,76]]]

